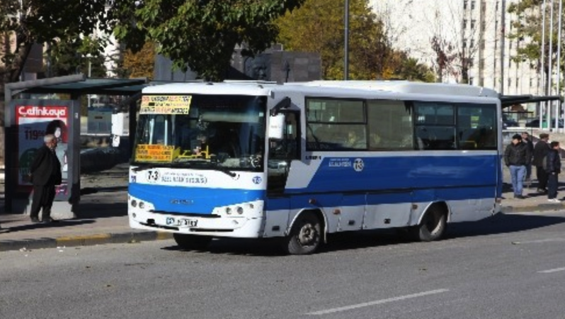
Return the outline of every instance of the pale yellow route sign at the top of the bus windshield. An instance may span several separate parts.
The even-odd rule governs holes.
[[[188,114],[190,95],[144,95],[139,114]]]

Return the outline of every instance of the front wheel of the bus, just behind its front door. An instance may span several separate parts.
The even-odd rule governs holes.
[[[321,243],[321,222],[314,213],[302,213],[283,241],[287,254],[312,254]]]

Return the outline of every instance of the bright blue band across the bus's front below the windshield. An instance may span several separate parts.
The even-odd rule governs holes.
[[[206,189],[131,183],[129,194],[169,213],[211,214],[214,208],[262,200],[265,191],[248,189]]]

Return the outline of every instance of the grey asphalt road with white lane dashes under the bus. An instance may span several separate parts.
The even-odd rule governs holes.
[[[565,212],[440,242],[340,235],[318,254],[172,240],[0,252],[0,318],[565,318]]]

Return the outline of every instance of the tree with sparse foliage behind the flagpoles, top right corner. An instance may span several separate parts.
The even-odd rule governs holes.
[[[550,33],[550,12],[551,4],[554,3],[554,32]],[[514,62],[528,62],[530,67],[537,69],[538,72],[543,70],[544,77],[547,81],[549,77],[549,61],[555,61],[557,58],[557,45],[558,45],[558,26],[557,19],[559,14],[565,15],[564,11],[559,13],[559,1],[546,1],[546,6],[543,6],[543,0],[521,0],[517,3],[510,4],[508,6],[508,12],[514,13],[517,18],[513,21],[512,31],[509,33],[508,38],[510,40],[515,40],[520,43],[518,45],[517,54],[512,57]],[[543,10],[545,9],[545,39],[542,39],[542,23],[543,23]],[[565,35],[565,32],[562,32]],[[549,57],[549,39],[552,38],[553,47],[552,57]],[[544,41],[543,41],[544,40]],[[541,65],[542,57],[542,42],[545,43],[544,47],[544,65]],[[562,41],[562,45],[565,45],[565,41]],[[559,67],[561,68],[561,74],[565,75],[565,51],[564,47],[561,47],[561,61],[559,61]],[[563,82],[561,82],[563,84]],[[563,85],[561,85],[563,88]]]

